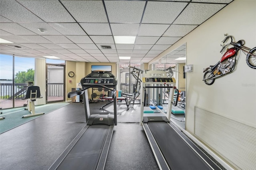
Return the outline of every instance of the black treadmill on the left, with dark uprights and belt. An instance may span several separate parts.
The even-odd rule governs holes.
[[[117,125],[117,78],[110,72],[94,71],[81,79],[82,89],[68,93],[68,97],[83,95],[87,125],[79,132],[70,145],[49,170],[103,170],[110,141]],[[90,114],[88,89],[102,87],[112,92],[114,115]]]

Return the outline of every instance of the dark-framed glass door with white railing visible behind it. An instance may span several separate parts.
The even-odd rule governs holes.
[[[65,101],[65,65],[46,64],[46,103]]]

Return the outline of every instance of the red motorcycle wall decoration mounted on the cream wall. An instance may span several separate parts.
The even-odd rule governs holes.
[[[222,49],[220,53],[226,49],[229,45],[233,45],[233,47],[227,49],[227,51],[222,55],[220,61],[215,65],[210,65],[206,69],[203,70],[204,78],[203,81],[207,85],[212,85],[216,78],[226,75],[227,73],[231,73],[234,71],[234,67],[236,65],[236,61],[238,61],[237,55],[238,51],[241,50],[246,55],[246,63],[252,69],[256,69],[256,47],[250,49],[244,46],[244,40],[239,40],[238,42],[233,42],[232,36],[224,35],[225,39],[222,41],[225,43],[228,39],[231,40],[230,43],[226,45],[221,45]]]

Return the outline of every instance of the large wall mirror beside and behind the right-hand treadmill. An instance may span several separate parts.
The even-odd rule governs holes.
[[[186,44],[164,55],[158,61],[152,63],[152,70],[163,70],[168,72],[169,77],[176,79],[176,87],[179,90],[179,100],[176,107],[172,107],[172,120],[185,129],[185,107],[186,107]],[[163,98],[168,98],[168,91],[161,91]]]

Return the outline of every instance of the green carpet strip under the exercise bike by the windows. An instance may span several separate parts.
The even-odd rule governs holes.
[[[43,112],[45,115],[56,109],[60,109],[61,107],[64,107],[68,104],[69,103],[66,103],[66,102],[60,102],[60,103],[51,103],[46,105],[35,106],[35,113]],[[24,115],[31,114],[28,110],[24,110],[25,108],[26,107],[19,107],[19,108],[1,110],[3,114],[1,114],[0,117],[5,117],[5,119],[0,119],[0,134],[14,127],[27,123],[28,121],[32,121],[33,119],[43,116],[43,115],[38,115],[33,117],[22,118],[22,116]]]

